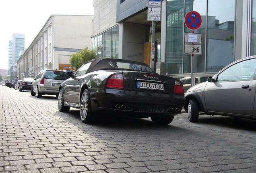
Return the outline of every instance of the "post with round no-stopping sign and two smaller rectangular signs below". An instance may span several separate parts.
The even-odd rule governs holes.
[[[194,54],[202,54],[202,34],[200,33],[194,33],[194,30],[197,30],[200,28],[202,24],[202,17],[201,15],[196,11],[190,11],[188,12],[184,17],[184,23],[187,26],[187,28],[191,29],[191,32],[185,32],[184,33],[184,42],[190,43],[190,44],[184,44],[184,54],[191,54],[191,84],[190,86],[193,86],[193,61],[192,57]],[[194,44],[194,43],[200,43],[200,44]]]

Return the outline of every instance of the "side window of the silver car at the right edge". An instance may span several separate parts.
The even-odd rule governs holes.
[[[234,64],[218,75],[218,82],[253,80],[256,69],[256,59],[245,60]]]

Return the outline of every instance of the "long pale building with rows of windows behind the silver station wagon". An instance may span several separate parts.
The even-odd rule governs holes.
[[[93,16],[52,15],[17,62],[19,78],[35,77],[44,68],[70,68],[70,56],[91,45]]]

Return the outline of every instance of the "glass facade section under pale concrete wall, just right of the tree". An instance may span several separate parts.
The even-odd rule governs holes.
[[[119,25],[93,37],[93,58],[118,58]]]

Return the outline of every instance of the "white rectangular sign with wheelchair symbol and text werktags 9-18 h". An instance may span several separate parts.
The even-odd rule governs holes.
[[[148,21],[161,21],[161,0],[149,0]]]

